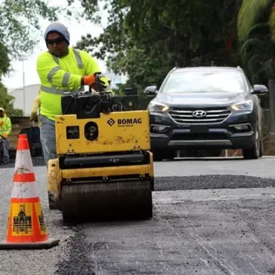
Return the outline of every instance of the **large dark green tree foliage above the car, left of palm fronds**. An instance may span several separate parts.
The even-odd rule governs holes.
[[[72,2],[72,0],[71,0]],[[236,12],[241,0],[107,0],[108,25],[77,47],[107,61],[127,84],[160,85],[177,66],[236,65]],[[100,1],[81,1],[85,17],[100,22]],[[233,41],[233,43],[232,43]]]

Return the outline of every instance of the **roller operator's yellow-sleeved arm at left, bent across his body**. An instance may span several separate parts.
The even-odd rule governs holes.
[[[39,74],[41,83],[51,83],[59,87],[80,87],[82,76],[65,72],[54,61],[50,54],[41,54],[37,58],[36,71]]]

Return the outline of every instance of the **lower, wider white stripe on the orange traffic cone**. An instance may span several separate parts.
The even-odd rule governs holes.
[[[14,198],[22,198],[22,199],[30,199],[34,197],[39,197],[36,182],[14,182],[14,186],[12,189],[12,199]]]

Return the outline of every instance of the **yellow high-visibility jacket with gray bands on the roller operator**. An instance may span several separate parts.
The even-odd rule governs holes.
[[[100,72],[95,58],[87,52],[69,47],[69,54],[62,58],[50,52],[43,52],[37,58],[36,71],[41,80],[40,113],[50,120],[62,114],[61,96],[64,91],[83,91],[82,76]],[[106,91],[111,91],[108,78],[102,77],[106,83]]]

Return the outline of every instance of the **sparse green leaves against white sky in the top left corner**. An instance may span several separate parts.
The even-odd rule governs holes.
[[[0,43],[8,48],[10,58],[22,60],[32,54],[39,42],[39,20],[55,21],[58,8],[47,7],[40,0],[5,0],[0,4]]]

